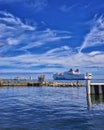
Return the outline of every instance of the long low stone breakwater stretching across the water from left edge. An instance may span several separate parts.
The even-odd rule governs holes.
[[[0,79],[0,86],[52,86],[52,87],[81,87],[86,84],[80,81],[75,82],[56,82],[56,81],[28,81],[28,80],[4,80]]]

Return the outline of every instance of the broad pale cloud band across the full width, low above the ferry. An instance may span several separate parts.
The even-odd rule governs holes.
[[[0,66],[11,66],[15,69],[31,70],[37,66],[46,66],[44,71],[55,71],[57,66],[62,68],[70,68],[79,66],[78,68],[83,69],[84,67],[104,66],[104,53],[103,52],[91,52],[89,54],[75,53],[68,46],[61,46],[60,48],[54,48],[43,54],[23,54],[12,57],[0,57]],[[100,64],[99,64],[100,63]],[[43,69],[42,69],[43,70]],[[56,71],[59,71],[60,68]],[[40,68],[41,71],[41,68]]]

